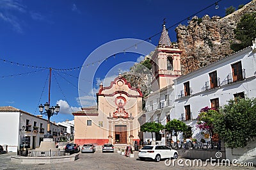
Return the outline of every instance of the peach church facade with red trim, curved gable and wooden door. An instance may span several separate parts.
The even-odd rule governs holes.
[[[75,121],[74,143],[139,142],[142,97],[140,88],[132,88],[121,74],[108,87],[100,84],[97,106],[72,113]]]

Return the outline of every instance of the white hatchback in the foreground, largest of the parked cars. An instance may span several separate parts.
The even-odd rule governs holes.
[[[145,160],[145,158],[150,158],[159,162],[161,158],[178,158],[178,152],[167,146],[162,145],[146,145],[139,150],[138,157],[141,160]]]

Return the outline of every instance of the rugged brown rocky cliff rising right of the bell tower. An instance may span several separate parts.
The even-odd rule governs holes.
[[[179,25],[177,43],[181,56],[181,70],[185,75],[202,66],[224,58],[233,53],[230,43],[238,43],[234,38],[234,28],[245,13],[256,12],[256,0],[226,17],[193,17],[188,26]]]

